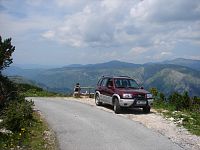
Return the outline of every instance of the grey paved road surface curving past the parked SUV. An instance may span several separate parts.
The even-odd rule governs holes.
[[[62,98],[31,98],[61,150],[180,150],[167,137],[128,118]]]

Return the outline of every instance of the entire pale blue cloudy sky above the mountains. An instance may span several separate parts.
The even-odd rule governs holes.
[[[17,64],[200,59],[200,0],[0,0]]]

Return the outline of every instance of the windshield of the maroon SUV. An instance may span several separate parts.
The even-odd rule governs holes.
[[[115,79],[115,87],[139,89],[139,85],[133,79]]]

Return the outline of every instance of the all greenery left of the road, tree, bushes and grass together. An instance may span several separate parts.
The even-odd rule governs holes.
[[[11,38],[2,40],[0,36],[0,149],[55,149],[55,140],[51,140],[47,124],[34,111],[34,103],[25,96],[57,94],[32,85],[13,83],[2,75],[2,70],[12,63],[14,50]]]

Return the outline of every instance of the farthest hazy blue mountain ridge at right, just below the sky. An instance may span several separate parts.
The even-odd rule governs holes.
[[[174,60],[164,61],[162,63],[185,66],[200,71],[200,60],[177,58]]]

